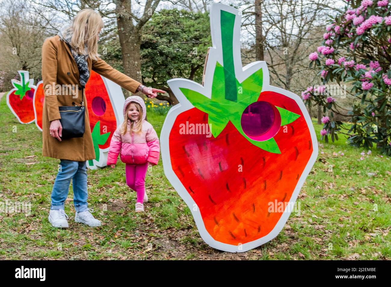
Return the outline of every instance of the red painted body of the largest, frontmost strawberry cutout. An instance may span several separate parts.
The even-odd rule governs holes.
[[[279,93],[265,91],[258,100],[302,115],[294,100]],[[181,123],[208,124],[207,116],[193,108],[176,118],[169,136],[172,169],[213,239],[237,246],[264,237],[283,214],[268,212],[269,203],[289,202],[312,154],[307,122],[300,117],[280,127],[276,154],[248,142],[231,123],[217,138],[179,132]]]

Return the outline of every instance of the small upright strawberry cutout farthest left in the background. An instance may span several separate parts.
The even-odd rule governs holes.
[[[14,88],[7,94],[7,105],[21,124],[34,122],[32,98],[35,91],[34,79],[29,79],[29,72],[18,71],[20,80],[12,79]]]

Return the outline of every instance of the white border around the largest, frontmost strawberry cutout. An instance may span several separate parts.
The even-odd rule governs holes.
[[[176,176],[174,171],[172,170],[172,165],[170,160],[169,135],[172,126],[180,113],[182,113],[183,111],[187,111],[188,109],[194,108],[194,106],[187,100],[187,98],[183,95],[183,93],[179,90],[179,88],[192,89],[210,98],[212,93],[213,72],[214,72],[216,61],[219,61],[219,63],[222,65],[221,35],[220,35],[220,30],[217,29],[219,28],[219,22],[220,22],[220,10],[228,11],[230,13],[237,15],[234,24],[235,32],[233,35],[233,44],[234,44],[233,50],[234,50],[234,54],[237,55],[237,57],[234,58],[234,65],[235,65],[235,74],[239,83],[241,83],[249,75],[253,74],[256,70],[262,68],[263,71],[262,91],[275,91],[277,93],[281,93],[295,100],[295,102],[300,107],[304,115],[304,118],[307,122],[308,128],[310,130],[313,151],[310,156],[310,160],[308,161],[305,169],[303,170],[303,173],[300,176],[300,179],[296,185],[296,188],[292,193],[291,199],[287,206],[289,206],[290,204],[294,204],[294,202],[296,201],[300,189],[303,186],[305,179],[307,178],[310,170],[312,169],[312,166],[316,161],[317,154],[318,154],[318,144],[317,144],[317,138],[316,138],[314,126],[312,125],[311,117],[308,114],[307,109],[305,108],[305,104],[303,103],[303,101],[300,99],[298,95],[292,93],[291,91],[283,90],[281,88],[277,88],[269,85],[269,71],[267,69],[266,62],[256,61],[242,68],[242,62],[240,59],[240,18],[241,17],[238,14],[239,11],[227,5],[223,5],[219,3],[212,4],[210,8],[210,25],[211,25],[213,47],[211,47],[209,51],[208,61],[205,70],[204,86],[187,79],[171,79],[167,81],[169,87],[171,88],[171,90],[179,100],[179,104],[177,104],[176,106],[170,109],[169,113],[167,114],[167,117],[165,118],[163,127],[161,129],[161,135],[160,135],[161,157],[163,161],[164,173],[167,176],[167,179],[169,179],[172,186],[178,192],[179,196],[181,196],[182,199],[185,201],[185,203],[189,206],[190,211],[192,212],[192,215],[194,217],[195,224],[197,225],[198,231],[202,239],[211,247],[216,249],[229,251],[229,252],[244,252],[256,248],[262,244],[265,244],[266,242],[276,237],[284,227],[285,222],[288,220],[291,212],[284,212],[280,217],[280,219],[278,220],[276,226],[274,226],[273,230],[267,235],[265,235],[264,237],[261,237],[260,239],[242,244],[241,246],[219,242],[213,239],[213,237],[206,230],[199,209],[196,208],[196,210],[194,211],[193,206],[196,206],[196,203],[193,200],[193,198],[190,196],[190,194],[187,192],[186,188],[182,185],[181,181]]]

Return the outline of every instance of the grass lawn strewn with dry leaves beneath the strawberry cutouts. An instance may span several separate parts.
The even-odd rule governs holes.
[[[164,117],[148,113],[158,134]],[[314,126],[319,135],[321,126]],[[19,124],[4,96],[0,204],[30,202],[31,213],[0,212],[0,259],[391,259],[391,160],[376,151],[359,160],[362,150],[343,139],[319,144],[298,197],[300,213],[291,214],[276,238],[245,253],[226,253],[203,242],[161,160],[147,173],[146,212],[134,212],[136,194],[118,160],[115,169],[88,170],[89,206],[103,225],[74,222],[71,185],[65,206],[70,227],[53,228],[47,217],[59,160],[42,156],[41,137],[34,123]]]

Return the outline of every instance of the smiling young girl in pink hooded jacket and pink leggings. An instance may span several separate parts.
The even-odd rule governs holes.
[[[124,122],[118,127],[110,142],[107,165],[117,163],[118,154],[126,163],[126,184],[137,192],[136,212],[144,211],[148,201],[145,192],[145,174],[149,165],[159,161],[159,138],[152,125],[145,120],[147,109],[144,100],[131,96],[125,100]]]

